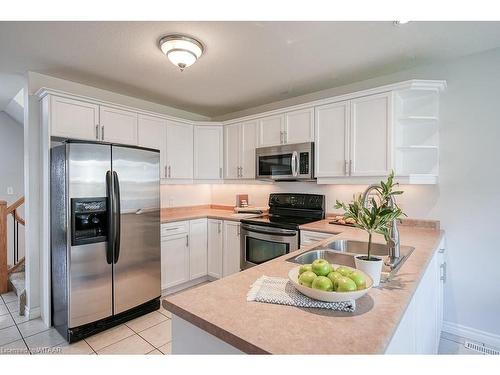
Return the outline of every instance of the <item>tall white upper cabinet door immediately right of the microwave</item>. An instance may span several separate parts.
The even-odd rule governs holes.
[[[316,176],[345,176],[349,159],[349,102],[316,107],[315,116]]]

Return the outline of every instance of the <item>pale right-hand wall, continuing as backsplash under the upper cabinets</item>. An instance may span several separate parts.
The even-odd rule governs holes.
[[[448,281],[445,320],[488,332],[500,340],[500,49],[358,82],[305,97],[298,104],[345,92],[407,79],[445,79],[441,97],[440,183],[404,186],[400,199],[410,217],[441,220],[446,230]],[[258,113],[283,103],[250,109]],[[225,118],[233,118],[226,116]],[[310,183],[276,185],[213,185],[212,202],[233,204],[234,195],[248,192],[252,204],[265,203],[271,191],[326,194],[328,210],[335,199],[348,200],[360,186],[317,186]],[[404,242],[404,239],[403,239]],[[481,332],[479,332],[481,333]]]

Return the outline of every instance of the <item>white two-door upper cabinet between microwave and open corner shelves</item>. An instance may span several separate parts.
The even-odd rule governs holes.
[[[316,177],[379,177],[392,169],[392,93],[315,109]]]

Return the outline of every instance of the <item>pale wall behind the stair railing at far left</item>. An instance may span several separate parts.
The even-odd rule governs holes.
[[[24,195],[24,155],[23,125],[4,111],[0,111],[0,200],[7,205],[14,203]],[[12,188],[12,195],[7,188]],[[24,217],[24,206],[19,208],[19,215]],[[13,261],[13,219],[7,219],[7,263]],[[24,256],[24,227],[19,225],[19,259]]]

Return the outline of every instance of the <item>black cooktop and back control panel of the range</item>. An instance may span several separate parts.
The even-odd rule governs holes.
[[[243,224],[298,229],[300,225],[325,218],[325,196],[301,193],[269,195],[269,214],[241,220]]]

